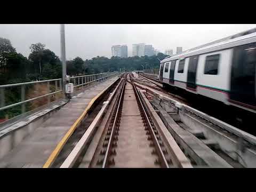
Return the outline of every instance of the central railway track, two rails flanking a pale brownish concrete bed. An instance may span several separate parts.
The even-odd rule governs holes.
[[[97,165],[102,167],[170,167],[170,154],[142,104],[130,75],[108,127]],[[127,81],[126,81],[127,78]]]

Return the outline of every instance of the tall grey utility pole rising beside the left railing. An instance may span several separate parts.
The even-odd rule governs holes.
[[[62,62],[62,90],[65,93],[66,84],[66,46],[65,46],[65,24],[60,24],[60,49],[61,49],[61,62]]]

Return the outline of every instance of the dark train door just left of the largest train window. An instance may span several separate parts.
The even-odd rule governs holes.
[[[196,90],[196,71],[197,71],[198,55],[189,58],[188,62],[188,78],[187,89]]]

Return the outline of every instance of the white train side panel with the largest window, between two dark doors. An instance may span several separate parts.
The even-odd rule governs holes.
[[[199,56],[197,93],[228,103],[233,50],[223,50]]]

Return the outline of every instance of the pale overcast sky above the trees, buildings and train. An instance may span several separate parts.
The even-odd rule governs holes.
[[[110,58],[111,46],[116,44],[126,44],[128,56],[131,56],[133,43],[152,44],[161,52],[166,49],[175,52],[177,46],[182,46],[184,51],[255,27],[255,24],[66,25],[66,57],[79,56],[85,60],[99,55]],[[59,25],[0,24],[0,37],[10,39],[17,52],[26,57],[30,53],[30,44],[38,42],[60,56]]]

